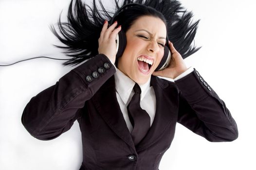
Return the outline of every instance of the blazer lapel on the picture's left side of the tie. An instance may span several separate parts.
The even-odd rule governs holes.
[[[133,140],[116,98],[114,76],[112,76],[91,99],[99,114],[112,131],[135,150]]]

